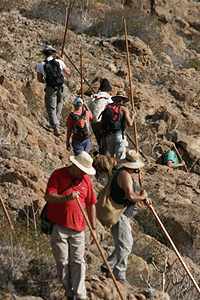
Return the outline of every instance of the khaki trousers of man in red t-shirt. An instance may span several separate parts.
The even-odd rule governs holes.
[[[54,225],[51,247],[66,297],[86,299],[84,231]]]

